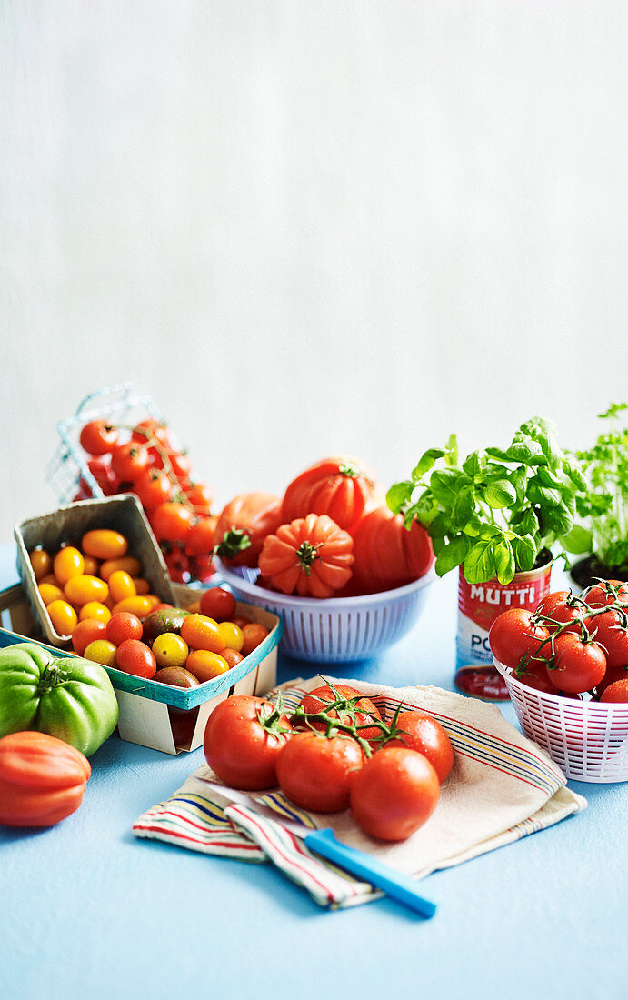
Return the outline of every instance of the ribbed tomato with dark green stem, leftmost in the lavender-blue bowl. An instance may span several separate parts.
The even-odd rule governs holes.
[[[267,535],[282,523],[281,498],[274,493],[242,493],[221,511],[214,532],[217,553],[229,566],[257,566]]]

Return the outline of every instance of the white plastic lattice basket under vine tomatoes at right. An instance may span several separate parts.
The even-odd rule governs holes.
[[[628,781],[628,702],[577,701],[528,687],[494,660],[525,735],[567,778]]]

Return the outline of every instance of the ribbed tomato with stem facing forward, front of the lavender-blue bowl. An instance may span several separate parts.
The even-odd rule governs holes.
[[[351,578],[353,540],[326,514],[308,514],[268,535],[260,573],[284,594],[331,597]]]

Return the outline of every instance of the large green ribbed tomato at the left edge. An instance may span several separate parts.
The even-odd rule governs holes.
[[[89,757],[117,721],[118,702],[98,663],[57,657],[31,642],[0,649],[0,737],[34,729]]]

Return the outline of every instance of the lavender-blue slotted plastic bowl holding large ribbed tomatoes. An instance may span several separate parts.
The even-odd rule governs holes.
[[[281,648],[311,663],[366,660],[398,642],[421,613],[432,572],[395,590],[364,597],[292,597],[256,586],[257,569],[228,567],[216,559],[218,574],[235,596],[279,615]]]

